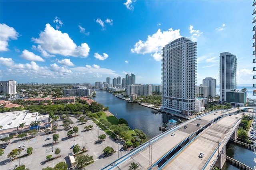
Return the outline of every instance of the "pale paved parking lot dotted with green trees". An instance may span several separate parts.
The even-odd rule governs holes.
[[[61,131],[56,132],[59,134],[59,139],[58,141],[56,141],[57,144],[43,147],[43,145],[45,144],[54,143],[54,141],[52,140],[52,134],[44,135],[44,131],[38,132],[36,137],[29,140],[20,140],[16,137],[11,139],[9,141],[10,144],[6,147],[6,149],[4,149],[4,154],[0,157],[1,170],[11,170],[14,169],[16,165],[19,166],[22,164],[24,164],[26,168],[29,168],[30,170],[41,170],[42,168],[46,168],[47,166],[54,167],[58,162],[62,161],[66,162],[68,164],[68,167],[70,167],[68,153],[72,152],[72,149],[70,149],[70,147],[76,144],[78,144],[81,149],[85,147],[88,152],[84,152],[84,154],[93,156],[93,159],[95,160],[93,164],[86,166],[87,170],[100,169],[103,166],[110,164],[110,162],[118,159],[118,156],[124,154],[124,152],[118,152],[118,149],[121,149],[122,146],[120,141],[114,141],[104,131],[99,129],[98,126],[91,119],[88,119],[88,122],[85,124],[80,124],[75,117],[70,117],[70,119],[74,122],[72,126],[77,126],[79,128],[78,133],[76,134],[78,136],[67,138],[68,131],[61,130],[64,129],[64,127],[62,126],[62,121],[59,119],[58,129]],[[93,129],[90,131],[84,131],[84,126],[88,125],[93,125]],[[101,134],[106,134],[105,141],[100,144],[94,144],[94,142],[98,140],[98,135]],[[46,140],[47,138],[51,139]],[[26,154],[26,149],[28,147],[33,148],[33,153],[24,158],[10,161],[9,158],[7,158],[8,153],[11,152],[12,149],[18,148],[20,145],[25,145],[25,149],[22,150],[20,155]],[[112,156],[104,158],[102,150],[107,146],[112,147],[117,152],[114,153]],[[59,154],[61,155],[61,157],[44,163],[47,155],[52,155],[52,157],[57,156],[56,154],[54,154],[56,148],[59,148],[61,150]]]

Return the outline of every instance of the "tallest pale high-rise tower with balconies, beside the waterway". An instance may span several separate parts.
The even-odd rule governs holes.
[[[162,49],[162,107],[167,112],[190,115],[196,104],[197,43],[181,37]]]

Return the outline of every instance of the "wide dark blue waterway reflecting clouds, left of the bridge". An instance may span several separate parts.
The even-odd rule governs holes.
[[[130,128],[142,130],[148,139],[159,135],[161,131],[158,130],[158,127],[167,123],[168,120],[176,120],[176,125],[180,123],[178,117],[157,112],[138,103],[126,102],[126,100],[117,98],[105,90],[96,90],[96,96],[92,97],[92,99],[103,104],[104,107],[108,106],[108,110],[118,119],[124,118]],[[184,121],[184,119],[181,120]]]

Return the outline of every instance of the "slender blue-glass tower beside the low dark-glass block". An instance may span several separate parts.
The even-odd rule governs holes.
[[[227,101],[226,92],[236,90],[237,58],[231,53],[220,53],[220,102]]]

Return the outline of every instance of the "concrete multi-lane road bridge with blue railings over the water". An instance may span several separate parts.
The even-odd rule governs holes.
[[[240,109],[249,109],[251,112],[245,112],[245,115],[253,115],[255,107]],[[132,162],[137,162],[142,170],[211,170],[214,165],[222,168],[226,161],[226,143],[230,138],[236,139],[242,119],[242,112],[237,111],[237,108],[218,110],[189,119],[126,153],[102,170],[128,169]],[[200,125],[196,126],[198,123]],[[198,157],[200,152],[204,157]]]

